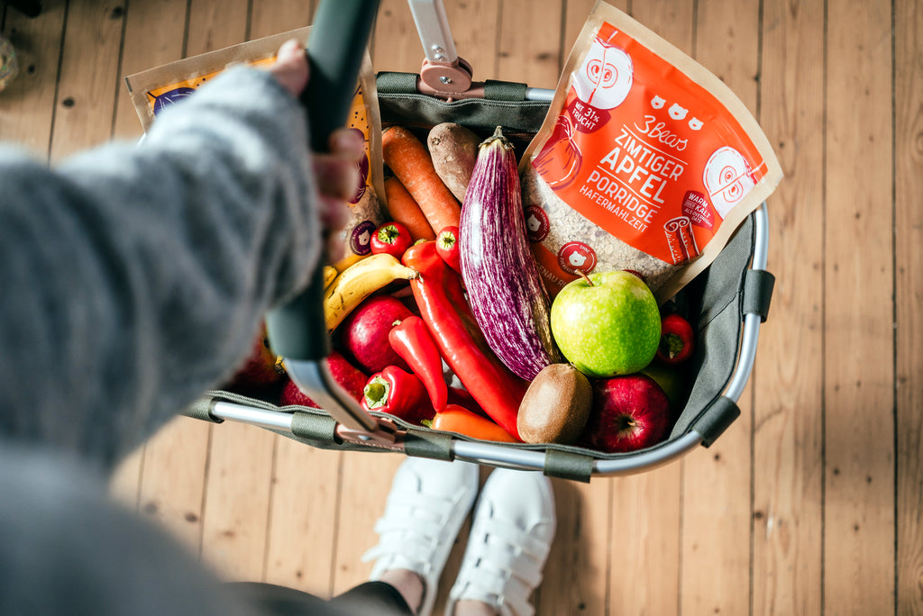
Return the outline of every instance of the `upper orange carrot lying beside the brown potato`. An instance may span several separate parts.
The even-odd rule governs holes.
[[[385,164],[420,204],[434,231],[457,227],[462,207],[439,178],[426,146],[402,126],[391,126],[381,136]]]

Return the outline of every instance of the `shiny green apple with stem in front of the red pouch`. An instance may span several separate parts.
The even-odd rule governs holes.
[[[637,373],[657,352],[660,311],[641,278],[599,272],[560,290],[551,304],[551,333],[564,357],[587,376]]]

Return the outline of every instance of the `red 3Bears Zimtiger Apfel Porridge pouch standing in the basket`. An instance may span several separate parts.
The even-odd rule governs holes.
[[[630,269],[665,302],[782,179],[744,104],[701,65],[597,3],[521,160],[545,284]]]

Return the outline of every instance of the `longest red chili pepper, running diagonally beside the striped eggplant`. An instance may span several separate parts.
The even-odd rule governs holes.
[[[409,248],[403,263],[420,273],[411,289],[442,357],[491,419],[519,439],[516,416],[528,383],[487,346],[465,300],[462,277],[438,255],[435,241]]]

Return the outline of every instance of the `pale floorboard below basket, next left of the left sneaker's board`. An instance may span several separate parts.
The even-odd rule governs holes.
[[[275,451],[265,579],[330,597],[343,454],[282,436]]]

